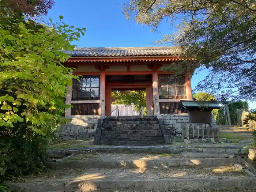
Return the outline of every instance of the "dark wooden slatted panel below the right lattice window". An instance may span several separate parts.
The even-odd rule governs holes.
[[[187,109],[182,109],[181,102],[159,102],[161,114],[188,113]]]

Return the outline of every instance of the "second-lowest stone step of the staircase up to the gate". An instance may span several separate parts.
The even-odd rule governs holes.
[[[155,141],[155,140],[162,140],[163,137],[162,136],[156,136],[156,137],[139,137],[137,134],[134,134],[132,137],[124,137],[124,138],[114,138],[114,137],[102,137],[101,138],[101,142],[104,141],[108,141],[108,142],[112,142],[112,141]]]

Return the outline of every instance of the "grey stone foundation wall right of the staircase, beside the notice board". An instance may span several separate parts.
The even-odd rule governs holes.
[[[181,136],[182,126],[188,123],[188,114],[161,114],[161,116],[169,136]]]

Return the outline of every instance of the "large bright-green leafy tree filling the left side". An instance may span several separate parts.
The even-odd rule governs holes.
[[[63,16],[60,16],[60,20]],[[24,18],[23,18],[24,19]],[[0,14],[0,181],[42,169],[66,107],[72,69],[61,64],[85,28],[27,25]],[[15,153],[13,153],[15,151]]]

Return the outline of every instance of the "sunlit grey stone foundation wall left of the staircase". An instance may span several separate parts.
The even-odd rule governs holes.
[[[58,140],[94,139],[99,116],[69,117],[69,119],[71,121],[57,131]]]

